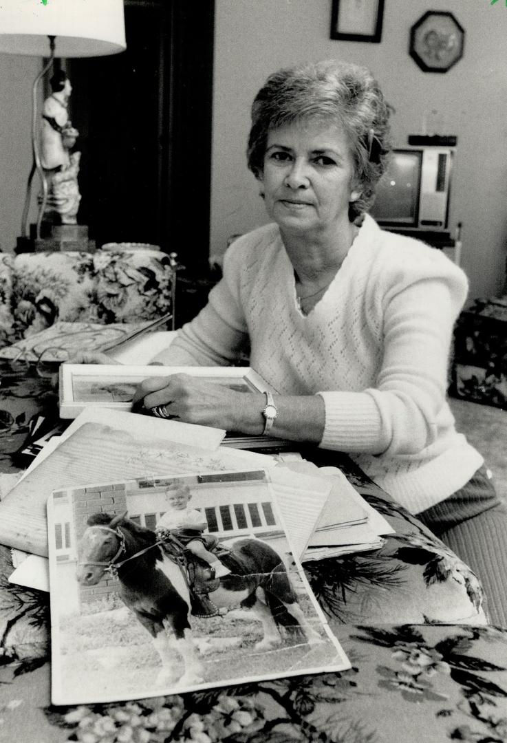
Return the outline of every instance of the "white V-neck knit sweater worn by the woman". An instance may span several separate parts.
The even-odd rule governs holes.
[[[459,490],[481,466],[445,400],[465,274],[439,250],[381,230],[366,215],[320,302],[297,308],[276,224],[227,250],[206,308],[157,360],[250,363],[281,395],[322,396],[320,446],[349,452],[412,513]]]

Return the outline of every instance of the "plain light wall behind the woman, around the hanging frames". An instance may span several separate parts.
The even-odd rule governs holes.
[[[465,28],[465,55],[445,74],[424,73],[408,55],[410,26],[448,10]],[[458,148],[451,224],[462,221],[462,267],[471,296],[503,291],[507,238],[507,8],[490,0],[385,0],[380,44],[329,39],[331,0],[216,0],[210,252],[266,221],[245,165],[249,109],[271,72],[341,57],[368,66],[395,107],[395,143],[421,132],[427,111],[445,112]]]

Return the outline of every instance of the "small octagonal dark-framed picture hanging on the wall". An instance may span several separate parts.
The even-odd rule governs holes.
[[[410,29],[410,56],[424,72],[447,72],[464,47],[465,30],[452,13],[428,10]]]

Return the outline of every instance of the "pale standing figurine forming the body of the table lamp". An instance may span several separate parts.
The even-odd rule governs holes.
[[[48,184],[43,219],[54,224],[77,224],[81,200],[77,175],[81,153],[69,152],[79,132],[68,117],[72,86],[65,72],[60,70],[54,74],[51,90],[42,109],[40,160]]]

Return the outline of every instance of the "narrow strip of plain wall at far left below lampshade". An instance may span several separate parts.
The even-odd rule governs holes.
[[[32,163],[32,85],[42,59],[0,54],[0,250],[10,253],[21,233],[25,189]],[[39,184],[34,180],[37,191]],[[35,207],[36,194],[33,195]],[[32,208],[33,218],[36,209]],[[32,221],[33,221],[32,218]]]

